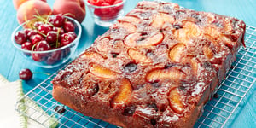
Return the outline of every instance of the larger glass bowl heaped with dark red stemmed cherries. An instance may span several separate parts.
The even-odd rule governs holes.
[[[65,15],[36,16],[12,34],[15,48],[39,67],[58,67],[73,57],[81,37],[77,20]]]

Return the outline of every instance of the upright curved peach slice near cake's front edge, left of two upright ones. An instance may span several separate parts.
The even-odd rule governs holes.
[[[113,97],[112,106],[113,108],[122,107],[125,102],[129,100],[131,96],[131,83],[128,79],[122,79],[119,86],[119,91],[116,96]]]

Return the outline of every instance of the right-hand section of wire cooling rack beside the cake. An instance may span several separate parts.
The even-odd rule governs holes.
[[[226,79],[218,87],[218,96],[207,102],[195,127],[224,127],[232,123],[256,79],[256,28],[247,26],[247,48],[239,49]]]

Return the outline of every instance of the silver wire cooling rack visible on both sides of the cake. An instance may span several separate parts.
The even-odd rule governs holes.
[[[211,101],[207,102],[204,113],[198,119],[194,127],[227,127],[232,124],[236,118],[241,101],[246,100],[247,92],[255,84],[256,79],[256,28],[247,26],[246,32],[247,48],[241,48],[238,51],[236,61],[232,64],[226,79],[219,86],[217,94]],[[62,67],[64,68],[64,67]],[[99,119],[93,119],[84,116],[81,113],[73,111],[71,108],[61,105],[52,97],[52,84],[50,81],[56,73],[51,75],[44,82],[38,84],[33,90],[29,91],[16,104],[16,110],[29,119],[39,124],[50,127],[52,124],[58,124],[57,127],[102,127],[114,128],[115,125],[108,124]],[[38,107],[44,111],[38,111],[23,99],[29,97],[37,102]],[[22,108],[24,105],[25,108]],[[64,109],[63,109],[64,108]],[[30,113],[27,113],[30,112]],[[45,113],[49,116],[45,118]],[[49,121],[53,119],[53,121]],[[50,123],[49,123],[50,122]]]

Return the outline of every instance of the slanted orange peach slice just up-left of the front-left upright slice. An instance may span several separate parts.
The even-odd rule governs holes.
[[[90,67],[90,73],[94,74],[96,77],[101,79],[117,79],[118,73],[99,65],[93,64]]]

